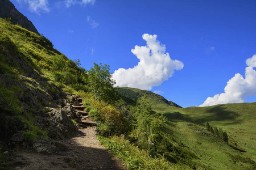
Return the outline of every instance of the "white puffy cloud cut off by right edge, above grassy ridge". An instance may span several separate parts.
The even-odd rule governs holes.
[[[226,103],[242,103],[246,96],[256,96],[256,71],[253,69],[253,67],[256,67],[256,54],[246,59],[246,64],[245,78],[240,73],[235,74],[226,84],[224,93],[208,97],[199,107]]]

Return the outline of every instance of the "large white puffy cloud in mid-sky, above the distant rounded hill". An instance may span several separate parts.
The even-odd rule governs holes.
[[[156,35],[143,34],[146,46],[136,45],[131,52],[137,56],[139,63],[129,69],[120,68],[114,71],[113,79],[119,87],[134,87],[151,90],[159,86],[174,74],[174,70],[183,69],[183,63],[172,60],[166,53],[166,46],[156,40]]]

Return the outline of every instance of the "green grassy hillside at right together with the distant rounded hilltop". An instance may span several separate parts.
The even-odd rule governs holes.
[[[163,131],[175,148],[167,151],[170,162],[196,169],[255,169],[256,103],[177,108],[152,92],[123,87],[118,92],[127,105],[135,105],[139,96],[146,95],[152,110],[167,117]],[[225,131],[228,143],[207,130],[206,122]]]

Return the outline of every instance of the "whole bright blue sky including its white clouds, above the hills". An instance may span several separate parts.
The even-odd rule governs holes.
[[[181,107],[256,101],[256,1],[11,2],[85,69],[110,65],[118,85]]]

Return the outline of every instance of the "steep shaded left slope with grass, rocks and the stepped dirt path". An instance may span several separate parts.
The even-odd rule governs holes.
[[[71,104],[84,69],[52,46],[0,18],[0,169],[125,169]]]

